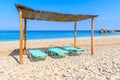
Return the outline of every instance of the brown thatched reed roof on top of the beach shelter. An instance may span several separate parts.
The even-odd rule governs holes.
[[[33,20],[45,20],[45,21],[61,21],[61,22],[72,22],[97,17],[97,15],[77,15],[77,14],[63,14],[57,12],[49,12],[42,10],[34,10],[32,8],[16,4],[18,11],[22,11],[23,18]]]

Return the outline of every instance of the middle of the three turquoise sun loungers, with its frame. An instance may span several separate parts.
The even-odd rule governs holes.
[[[54,54],[58,54],[58,55],[69,54],[68,51],[57,48],[57,47],[49,47],[49,48],[47,48],[47,50],[50,51],[51,53],[53,53],[53,55]]]

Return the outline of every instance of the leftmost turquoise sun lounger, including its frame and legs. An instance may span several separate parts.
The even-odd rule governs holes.
[[[30,49],[28,50],[28,57],[31,61],[37,61],[37,60],[43,60],[47,56],[46,53],[44,53],[41,50],[38,49]]]

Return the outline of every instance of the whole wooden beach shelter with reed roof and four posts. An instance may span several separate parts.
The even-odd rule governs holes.
[[[49,12],[42,10],[34,10],[32,8],[16,4],[16,8],[19,12],[20,19],[20,64],[23,64],[23,52],[26,53],[26,28],[27,28],[27,19],[31,20],[44,20],[44,21],[59,21],[59,22],[75,22],[74,25],[74,47],[76,47],[76,22],[92,19],[91,24],[91,52],[94,53],[93,47],[93,36],[94,36],[94,17],[97,15],[79,15],[79,14],[63,14],[57,12]],[[24,19],[24,28],[23,21]],[[24,39],[24,48],[23,48],[23,39]]]

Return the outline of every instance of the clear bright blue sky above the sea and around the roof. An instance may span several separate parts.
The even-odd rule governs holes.
[[[15,4],[36,10],[67,14],[99,15],[95,30],[120,29],[120,0],[1,0],[0,30],[19,30],[19,15]],[[73,30],[74,22],[27,20],[27,30]],[[90,30],[91,19],[77,21],[77,30]]]

